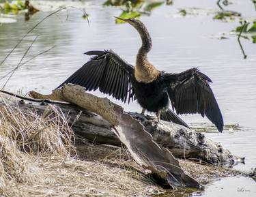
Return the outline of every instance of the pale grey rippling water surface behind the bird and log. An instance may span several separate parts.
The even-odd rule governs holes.
[[[242,12],[243,16],[255,16],[250,1],[233,2],[229,9]],[[87,20],[82,18],[81,12],[70,10],[68,20],[66,12],[60,12],[58,17],[48,18],[24,40],[8,61],[1,65],[0,76],[16,66],[35,35],[39,35],[39,38],[28,57],[53,45],[56,47],[20,67],[5,89],[22,93],[38,89],[42,93],[49,93],[88,60],[83,55],[87,50],[111,48],[134,63],[141,41],[137,32],[129,25],[115,25],[113,16],[118,16],[122,11],[116,7],[102,7],[102,1],[86,1],[85,7],[90,27]],[[181,72],[199,66],[202,72],[212,78],[212,89],[223,110],[225,123],[238,123],[242,130],[207,135],[221,142],[234,154],[246,157],[246,165],[236,168],[251,170],[256,167],[256,155],[253,153],[256,143],[256,45],[242,40],[248,55],[248,59],[244,60],[236,36],[231,35],[227,40],[216,39],[221,33],[229,33],[231,29],[235,29],[238,22],[214,21],[207,14],[176,17],[178,9],[183,7],[218,10],[212,1],[186,0],[175,1],[173,6],[162,5],[150,17],[142,16],[141,20],[145,22],[153,40],[149,59],[158,69],[167,72]],[[18,22],[1,25],[0,59],[47,14],[49,12],[38,12],[28,22],[24,22],[24,16],[20,15],[17,16]],[[3,82],[1,80],[1,85]],[[98,92],[96,94],[101,95]],[[126,110],[141,110],[136,103],[122,106]],[[183,118],[188,123],[209,123],[199,116]]]

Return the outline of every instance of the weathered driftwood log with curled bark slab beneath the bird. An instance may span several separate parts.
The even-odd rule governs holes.
[[[78,105],[55,103],[70,117],[70,123],[74,123],[79,115],[79,120],[72,124],[75,134],[91,142],[116,146],[124,143],[137,163],[165,179],[169,185],[199,187],[197,181],[183,172],[173,155],[212,164],[233,164],[240,159],[203,134],[173,123],[158,122],[152,117],[126,113],[120,106],[85,93],[79,86],[66,85],[51,95],[40,95],[34,91],[30,95],[41,100],[58,100]],[[33,108],[39,113],[47,106],[44,102],[35,104],[31,101],[11,101],[12,104],[18,104],[21,110]]]

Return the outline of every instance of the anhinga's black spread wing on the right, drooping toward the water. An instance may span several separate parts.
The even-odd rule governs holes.
[[[219,132],[223,131],[223,117],[209,82],[212,80],[197,68],[180,74],[165,74],[169,82],[168,94],[177,115],[199,113],[206,116]]]

